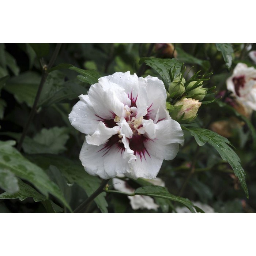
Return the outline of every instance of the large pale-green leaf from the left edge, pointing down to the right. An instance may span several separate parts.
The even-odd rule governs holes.
[[[60,188],[50,180],[44,170],[31,163],[16,148],[12,147],[14,144],[15,142],[12,140],[7,142],[0,141],[0,167],[8,169],[16,176],[31,182],[45,196],[48,196],[48,193],[56,196],[71,210]]]

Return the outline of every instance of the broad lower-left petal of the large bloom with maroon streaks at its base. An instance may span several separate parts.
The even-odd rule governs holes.
[[[116,141],[118,139],[117,136]],[[110,142],[107,142],[101,146],[94,146],[84,140],[79,158],[86,172],[93,176],[98,175],[103,179],[131,172],[127,159],[123,158],[124,148],[121,145],[118,142],[112,143],[112,145]]]

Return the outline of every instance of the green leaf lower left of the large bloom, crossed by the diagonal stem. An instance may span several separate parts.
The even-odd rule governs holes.
[[[48,169],[50,165],[56,166],[67,178],[69,184],[75,182],[84,189],[88,196],[90,196],[101,184],[101,180],[98,177],[88,174],[80,162],[74,162],[68,158],[57,155],[36,154],[28,155],[27,157],[43,169]],[[103,213],[108,212],[108,203],[105,200],[105,193],[98,195],[94,201]]]

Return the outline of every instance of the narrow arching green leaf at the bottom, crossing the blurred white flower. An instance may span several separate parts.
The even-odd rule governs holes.
[[[144,195],[144,196],[153,196],[153,197],[160,197],[163,199],[169,199],[174,202],[178,202],[184,204],[192,213],[195,213],[193,207],[195,207],[187,198],[183,198],[180,196],[174,196],[169,193],[167,188],[161,186],[146,186],[137,188],[134,192],[135,195]]]

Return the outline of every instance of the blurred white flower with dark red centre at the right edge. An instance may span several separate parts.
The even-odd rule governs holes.
[[[256,69],[238,63],[227,79],[227,89],[246,108],[256,110]]]

